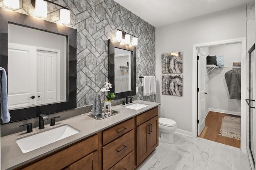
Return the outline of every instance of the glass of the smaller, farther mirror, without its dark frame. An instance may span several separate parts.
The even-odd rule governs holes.
[[[131,90],[131,51],[115,48],[115,93]]]

